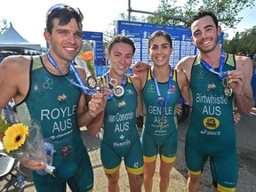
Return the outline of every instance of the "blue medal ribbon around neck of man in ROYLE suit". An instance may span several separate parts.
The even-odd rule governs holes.
[[[52,63],[52,66],[53,66],[54,68],[56,68],[56,69],[60,72],[60,75],[61,75],[61,76],[64,76],[64,77],[68,80],[68,82],[69,82],[70,84],[74,84],[75,86],[80,87],[80,88],[83,90],[84,94],[88,94],[88,95],[91,95],[91,96],[92,96],[92,95],[95,93],[95,90],[89,90],[89,89],[85,86],[85,84],[84,84],[84,82],[83,82],[81,76],[79,75],[79,73],[77,72],[77,70],[76,70],[76,68],[75,68],[74,60],[69,61],[68,66],[69,66],[69,68],[71,69],[71,71],[75,74],[76,80],[77,80],[78,84],[76,84],[76,82],[74,81],[74,79],[69,79],[68,76],[65,76],[65,75],[62,73],[62,71],[60,70],[59,66],[56,64],[55,60],[53,60],[53,58],[52,58],[50,52],[47,52],[47,58],[48,58],[48,60]]]

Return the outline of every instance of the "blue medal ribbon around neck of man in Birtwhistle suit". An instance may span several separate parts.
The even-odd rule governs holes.
[[[225,56],[226,56],[226,52],[224,52],[223,50],[221,51],[221,57],[220,57],[220,68],[219,68],[219,72],[212,68],[212,66],[210,66],[205,60],[203,60],[202,58],[200,58],[200,62],[202,63],[202,65],[204,66],[204,68],[207,68],[209,71],[211,71],[214,74],[217,74],[219,76],[219,79],[222,80],[223,78],[228,76],[227,71],[223,72],[223,68],[224,68],[224,62],[225,62]]]

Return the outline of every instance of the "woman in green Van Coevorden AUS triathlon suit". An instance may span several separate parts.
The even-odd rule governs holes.
[[[141,191],[143,157],[136,126],[137,108],[141,111],[140,79],[126,75],[131,67],[135,47],[127,36],[114,36],[108,44],[108,72],[100,76],[112,91],[101,112],[87,127],[92,134],[101,129],[100,158],[108,177],[108,191],[119,191],[122,159],[128,173],[130,191]],[[141,115],[141,114],[140,114]]]

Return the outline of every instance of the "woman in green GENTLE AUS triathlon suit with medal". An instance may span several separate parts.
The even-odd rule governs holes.
[[[156,172],[156,158],[160,156],[159,191],[168,191],[170,172],[178,147],[176,106],[180,93],[189,101],[188,83],[182,71],[169,65],[172,37],[165,31],[155,31],[148,39],[148,53],[152,67],[136,76],[142,84],[144,126],[141,142],[144,156],[144,188],[152,191]],[[178,83],[179,82],[179,83]]]

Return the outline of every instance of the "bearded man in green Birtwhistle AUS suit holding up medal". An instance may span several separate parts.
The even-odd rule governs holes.
[[[252,61],[221,49],[221,28],[212,12],[198,12],[191,23],[199,54],[177,65],[188,77],[193,100],[185,146],[188,191],[199,191],[208,157],[213,190],[235,191],[238,161],[233,112],[235,107],[243,114],[252,109]]]

